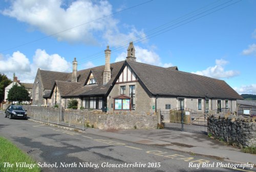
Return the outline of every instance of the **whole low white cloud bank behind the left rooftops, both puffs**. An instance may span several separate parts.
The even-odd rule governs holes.
[[[0,72],[12,79],[16,74],[21,82],[33,83],[37,69],[71,72],[72,65],[58,54],[48,54],[45,50],[37,49],[33,61],[29,61],[25,54],[16,51],[0,59]]]

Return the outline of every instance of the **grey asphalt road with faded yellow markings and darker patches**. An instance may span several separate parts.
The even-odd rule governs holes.
[[[233,169],[230,162],[161,146],[8,119],[3,111],[0,111],[0,136],[8,138],[35,159],[36,165],[42,165],[42,171],[255,171],[255,168]],[[228,165],[229,168],[224,167]]]

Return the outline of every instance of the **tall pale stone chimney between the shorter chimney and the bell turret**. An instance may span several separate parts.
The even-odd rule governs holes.
[[[108,83],[111,79],[110,55],[111,55],[110,47],[106,46],[106,50],[105,50],[105,69],[104,69],[104,72],[103,72],[103,84]]]

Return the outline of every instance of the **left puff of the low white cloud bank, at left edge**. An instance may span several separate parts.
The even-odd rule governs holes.
[[[29,59],[19,51],[16,51],[12,54],[12,56],[7,55],[7,59],[5,60],[3,57],[0,60],[0,71],[2,73],[8,72],[29,72],[30,64]]]

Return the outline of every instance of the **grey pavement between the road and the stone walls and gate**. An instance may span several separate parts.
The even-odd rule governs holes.
[[[41,121],[35,122],[45,123]],[[55,124],[50,124],[56,126]],[[125,140],[135,143],[164,146],[165,148],[179,150],[181,152],[194,153],[235,163],[256,164],[256,155],[241,152],[239,148],[226,145],[224,142],[211,139],[205,134],[188,133],[166,129],[155,130],[99,130],[85,128],[84,131],[75,128],[58,126],[71,131],[85,134],[93,134],[113,139]]]

